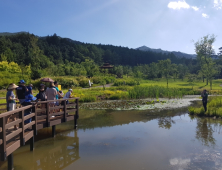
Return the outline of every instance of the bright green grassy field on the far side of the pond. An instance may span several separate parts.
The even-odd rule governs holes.
[[[63,77],[65,78],[65,77]],[[71,79],[71,77],[68,77]],[[116,80],[120,84],[119,86],[112,86],[108,88],[81,88],[72,86],[73,96],[80,97],[80,102],[93,102],[104,99],[130,99],[130,98],[145,98],[145,97],[182,97],[183,95],[196,94],[199,95],[203,89],[207,89],[210,94],[222,94],[222,80],[214,80],[213,81],[213,89],[210,90],[210,85],[206,86],[205,82],[194,82],[189,83],[185,79],[181,80],[169,80],[169,88],[166,86],[165,79],[158,80],[138,80],[132,78],[118,79]],[[121,83],[121,81],[123,83]],[[131,82],[130,85],[122,85],[126,84],[126,82]],[[134,85],[132,82],[136,82],[139,85]],[[114,82],[115,84],[115,82]],[[99,85],[99,84],[98,84]],[[94,84],[95,86],[95,84]],[[63,88],[63,87],[62,87]],[[69,88],[62,89],[65,94]],[[37,89],[33,90],[34,95],[38,93]],[[6,90],[0,90],[0,97],[5,97]],[[0,100],[0,103],[5,103],[5,100]]]

